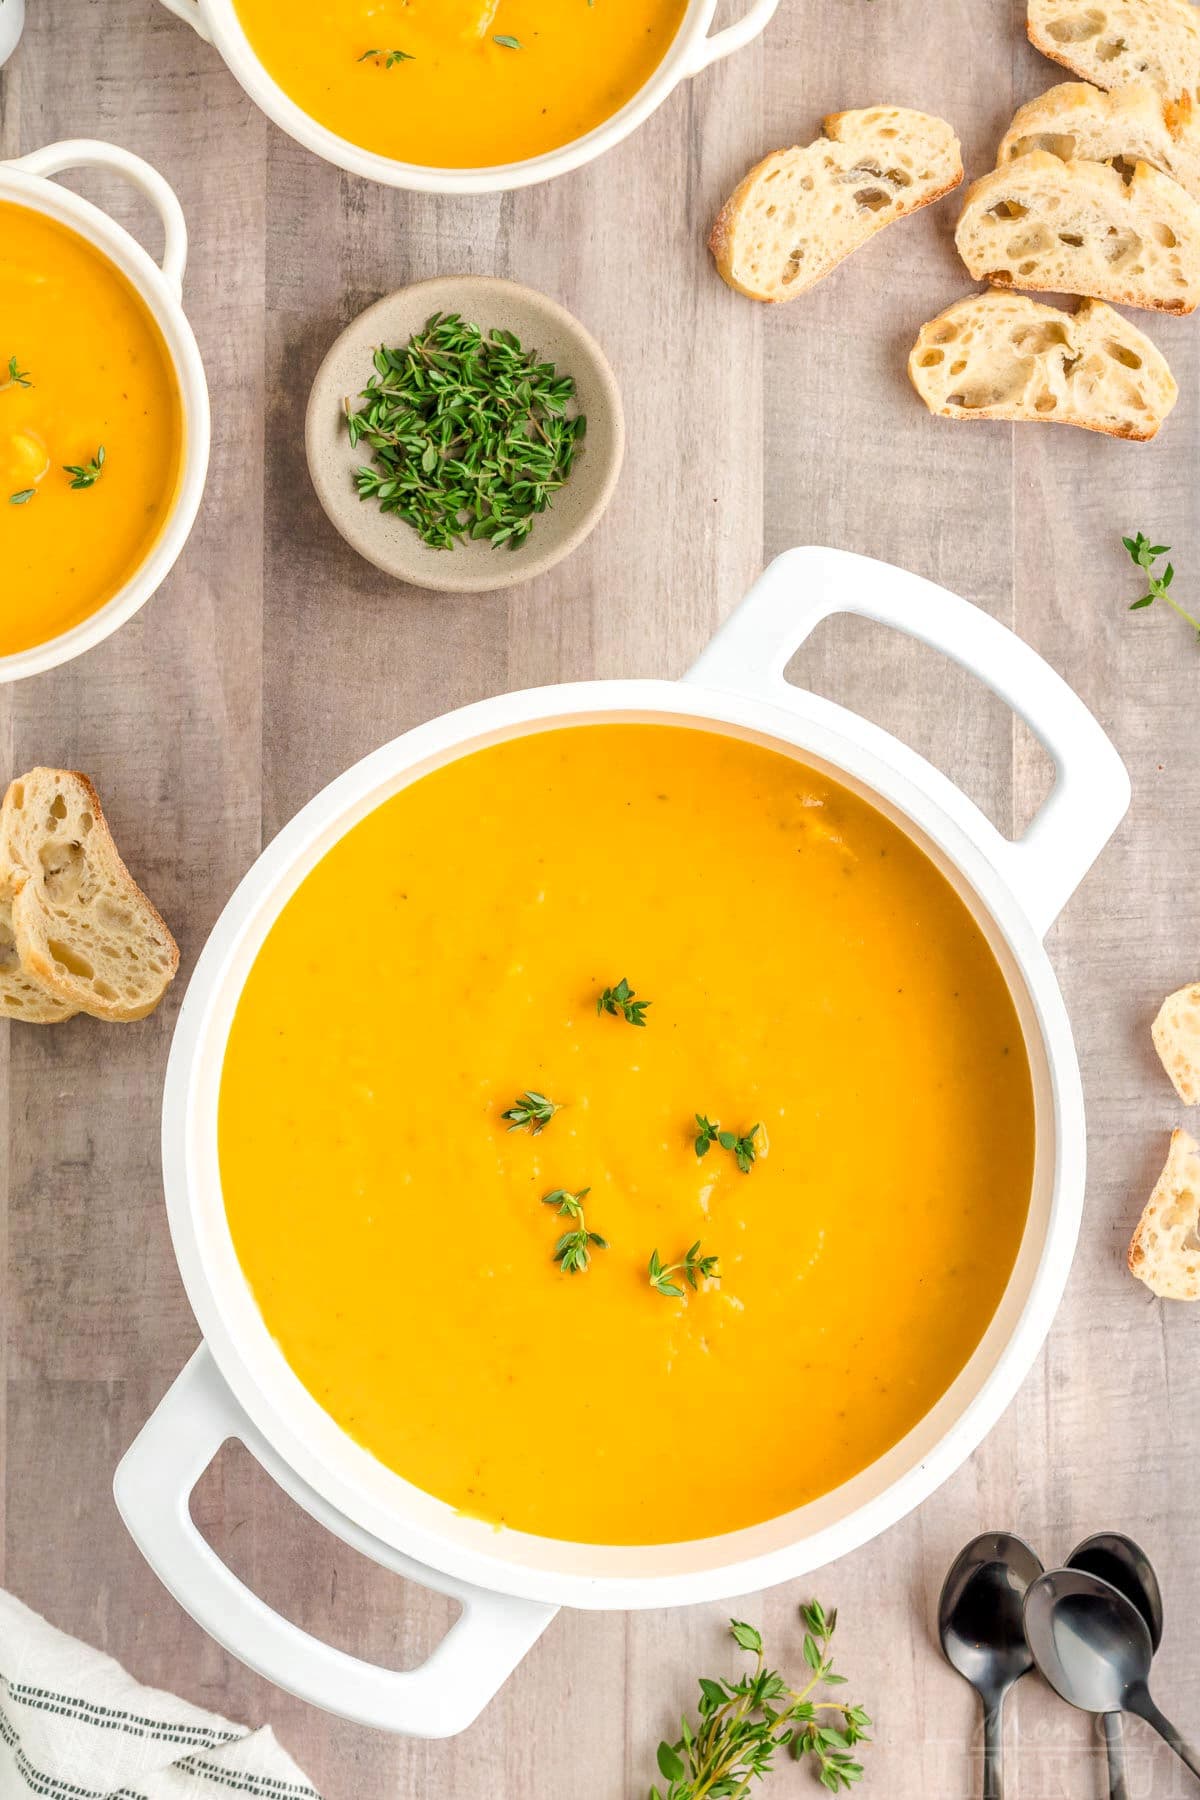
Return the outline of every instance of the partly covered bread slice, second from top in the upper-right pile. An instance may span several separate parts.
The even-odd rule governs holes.
[[[1123,175],[1132,175],[1139,162],[1175,180],[1182,173],[1162,95],[1150,81],[1132,81],[1112,94],[1090,81],[1060,81],[1047,88],[1018,108],[1000,139],[997,167],[1031,149],[1049,151],[1061,162],[1110,162]]]

